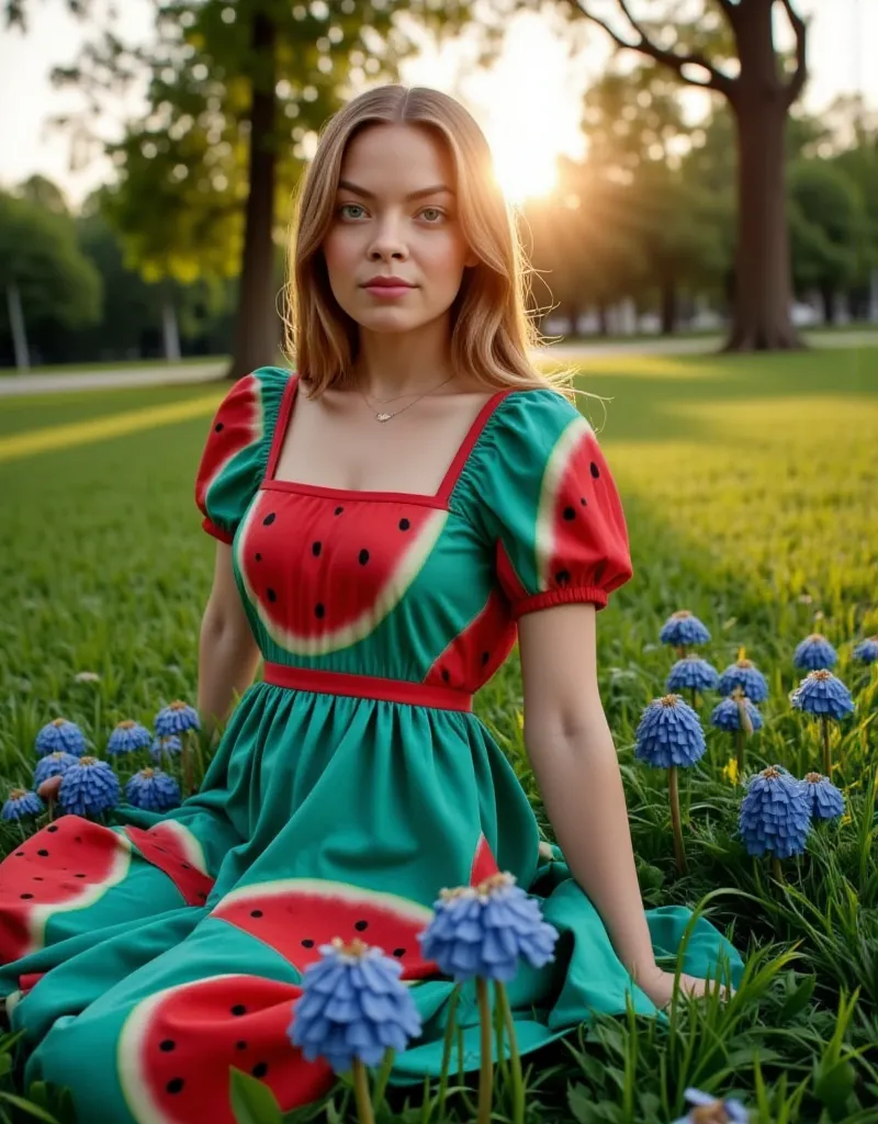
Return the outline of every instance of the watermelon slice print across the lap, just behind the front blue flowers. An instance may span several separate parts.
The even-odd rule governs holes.
[[[483,834],[473,852],[470,885],[498,871]],[[418,933],[433,910],[396,894],[368,890],[347,882],[283,878],[232,890],[210,913],[271,945],[299,971],[320,959],[320,945],[338,936],[377,945],[402,966],[401,979],[436,975],[420,952]]]

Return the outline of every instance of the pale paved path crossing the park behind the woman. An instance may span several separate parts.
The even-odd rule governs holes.
[[[805,333],[815,347],[878,347],[878,332]],[[721,336],[696,336],[686,339],[627,339],[612,343],[553,344],[537,348],[533,354],[572,355],[585,357],[601,355],[693,355],[715,352],[722,344]],[[125,366],[118,371],[81,371],[70,374],[6,374],[0,375],[0,398],[18,395],[52,393],[58,390],[98,390],[102,387],[160,387],[168,383],[210,382],[221,378],[226,370],[223,360],[205,363],[179,363],[168,366]]]

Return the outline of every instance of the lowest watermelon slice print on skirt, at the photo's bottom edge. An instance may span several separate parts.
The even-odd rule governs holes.
[[[230,1067],[266,1085],[283,1112],[316,1100],[335,1080],[287,1035],[293,984],[212,976],[165,988],[128,1014],[116,1049],[125,1100],[137,1124],[235,1124]]]

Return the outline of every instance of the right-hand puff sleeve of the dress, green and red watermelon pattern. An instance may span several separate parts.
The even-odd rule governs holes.
[[[514,618],[571,601],[604,608],[633,568],[622,502],[591,426],[551,389],[516,391],[498,414],[483,496]]]

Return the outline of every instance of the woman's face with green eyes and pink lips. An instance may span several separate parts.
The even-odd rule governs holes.
[[[451,158],[427,129],[373,125],[349,144],[323,252],[333,296],[362,328],[410,332],[449,309],[478,262],[454,190]],[[382,296],[366,288],[375,274],[410,288]]]

